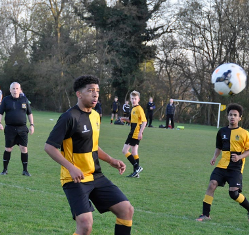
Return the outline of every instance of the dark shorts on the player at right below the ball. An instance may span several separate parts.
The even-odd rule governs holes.
[[[240,171],[227,170],[219,167],[214,168],[210,180],[216,180],[219,186],[224,187],[226,182],[229,187],[237,187],[242,192],[242,173]]]

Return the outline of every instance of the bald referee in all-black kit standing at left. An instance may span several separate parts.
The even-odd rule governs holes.
[[[19,145],[21,150],[21,160],[23,164],[23,175],[31,176],[27,170],[28,166],[28,133],[34,133],[33,114],[28,99],[21,96],[21,86],[18,82],[10,85],[11,95],[4,97],[0,106],[0,130],[4,129],[5,151],[3,154],[3,172],[1,175],[8,173],[7,168],[10,161],[11,151],[14,145]],[[5,128],[1,123],[5,112]],[[30,128],[26,126],[28,116]]]

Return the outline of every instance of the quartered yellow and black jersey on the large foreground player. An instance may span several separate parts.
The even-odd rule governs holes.
[[[99,114],[83,112],[77,105],[63,113],[51,131],[47,144],[61,148],[62,155],[84,174],[81,182],[102,176],[98,158]],[[61,167],[61,184],[73,181],[69,171]]]

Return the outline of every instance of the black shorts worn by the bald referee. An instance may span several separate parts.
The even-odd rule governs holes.
[[[29,129],[24,126],[9,126],[4,128],[5,147],[11,148],[14,145],[28,146],[28,133]]]

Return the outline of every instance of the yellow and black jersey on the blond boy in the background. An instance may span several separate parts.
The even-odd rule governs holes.
[[[140,105],[134,106],[130,114],[131,131],[128,135],[129,138],[137,139],[141,128],[141,124],[146,122],[144,110]]]

